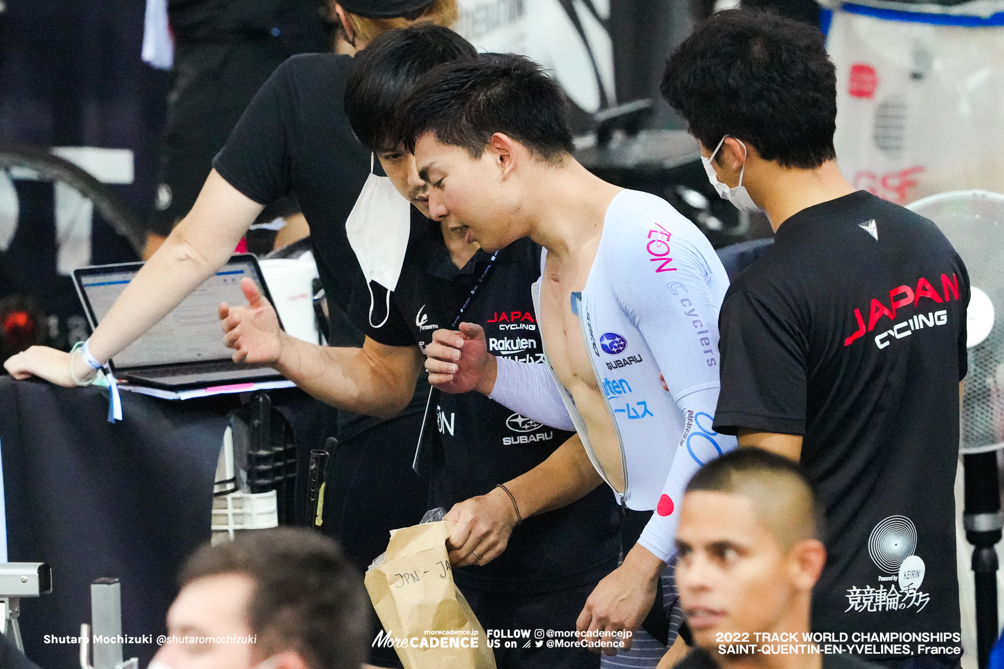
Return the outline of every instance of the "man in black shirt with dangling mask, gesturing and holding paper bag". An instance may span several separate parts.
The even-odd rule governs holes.
[[[456,33],[434,26],[390,32],[356,56],[346,81],[352,129],[390,176],[368,178],[346,224],[372,279],[371,293],[361,293],[355,304],[355,322],[366,335],[362,349],[321,348],[284,335],[274,310],[248,283],[251,305],[221,310],[224,341],[237,359],[273,365],[336,406],[404,401],[433,332],[460,315],[485,328],[500,358],[543,359],[530,293],[540,276],[540,248],[524,239],[486,253],[465,239],[462,226],[431,221],[414,156],[395,142],[395,112],[420,65],[476,59],[473,49],[471,58],[451,57],[461,46],[470,48]],[[433,438],[424,443],[419,468],[430,480],[430,508],[449,509],[446,520],[457,523],[448,542],[453,577],[482,625],[501,634],[574,632],[589,593],[616,567],[619,545],[612,496],[599,487],[588,461],[558,453],[563,442],[574,446],[577,439],[476,393],[443,395],[430,418],[426,436]],[[415,440],[406,445],[414,452]],[[545,460],[566,465],[560,479],[538,478],[529,488],[546,490],[558,503],[553,513],[536,515],[547,510],[535,509],[524,523],[515,495],[527,488],[510,483]],[[499,669],[599,666],[599,657],[581,647],[516,645],[495,649]]]

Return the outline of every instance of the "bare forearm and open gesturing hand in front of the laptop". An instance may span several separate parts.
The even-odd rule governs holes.
[[[417,345],[318,346],[279,328],[275,309],[251,279],[241,280],[247,307],[220,305],[223,342],[234,362],[267,364],[317,399],[355,413],[390,418],[408,405],[422,369]]]

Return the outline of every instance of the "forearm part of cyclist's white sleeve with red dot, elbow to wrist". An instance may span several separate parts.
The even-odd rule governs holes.
[[[652,515],[638,540],[639,544],[663,562],[669,562],[676,553],[680,504],[687,483],[704,464],[739,445],[736,437],[719,434],[712,429],[715,407],[718,404],[718,388],[692,392],[680,397],[677,404],[684,412],[687,427],[680,437],[656,513]]]

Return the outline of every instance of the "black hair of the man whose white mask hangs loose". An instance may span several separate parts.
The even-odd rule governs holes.
[[[345,81],[355,136],[370,149],[397,145],[395,115],[416,80],[436,65],[477,55],[466,39],[432,23],[381,33],[352,59]]]

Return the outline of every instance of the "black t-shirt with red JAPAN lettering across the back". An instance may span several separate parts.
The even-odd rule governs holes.
[[[715,428],[803,435],[825,510],[818,631],[959,631],[968,303],[938,228],[863,191],[792,216],[726,293]]]

